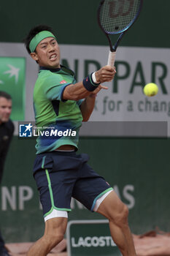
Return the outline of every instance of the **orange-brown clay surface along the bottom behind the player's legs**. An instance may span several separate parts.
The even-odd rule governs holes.
[[[137,256],[170,256],[170,233],[153,230],[133,237]],[[31,245],[32,243],[7,244],[7,248],[12,256],[26,256]],[[61,241],[48,256],[67,256],[66,240]]]

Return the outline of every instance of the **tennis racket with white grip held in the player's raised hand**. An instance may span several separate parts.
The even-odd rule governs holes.
[[[98,7],[98,24],[109,41],[108,65],[114,66],[117,46],[127,31],[138,18],[142,9],[142,0],[102,0]],[[115,45],[110,35],[118,34]]]

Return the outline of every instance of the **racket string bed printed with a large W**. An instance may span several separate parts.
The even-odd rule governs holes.
[[[99,19],[104,31],[119,33],[131,26],[140,8],[140,0],[105,0]]]

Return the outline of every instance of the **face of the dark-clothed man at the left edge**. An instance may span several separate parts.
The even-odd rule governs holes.
[[[0,124],[7,122],[12,111],[12,100],[0,97]]]

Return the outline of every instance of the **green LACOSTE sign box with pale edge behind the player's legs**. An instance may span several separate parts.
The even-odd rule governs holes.
[[[112,240],[106,220],[80,220],[68,223],[66,230],[69,256],[121,256]]]

